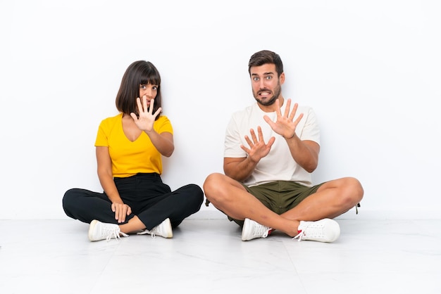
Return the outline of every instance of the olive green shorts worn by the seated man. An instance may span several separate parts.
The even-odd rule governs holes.
[[[316,193],[317,189],[323,184],[324,183],[308,187],[295,181],[272,181],[271,183],[258,186],[242,186],[254,197],[259,199],[268,209],[281,215],[299,205],[306,197]],[[243,220],[233,219],[232,217],[228,217],[228,219],[236,222],[240,226],[244,224]]]

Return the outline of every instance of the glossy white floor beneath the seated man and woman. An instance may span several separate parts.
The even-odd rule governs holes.
[[[1,220],[0,293],[441,293],[441,219],[337,221],[335,243],[242,242],[227,219],[92,243],[75,220]]]

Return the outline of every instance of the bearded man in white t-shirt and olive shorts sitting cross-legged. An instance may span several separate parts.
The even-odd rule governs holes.
[[[282,96],[285,73],[278,54],[254,53],[248,68],[256,103],[231,117],[225,175],[206,178],[206,205],[242,226],[242,241],[279,230],[299,241],[333,242],[340,236],[333,218],[357,205],[363,188],[352,177],[311,183],[320,151],[313,110]]]

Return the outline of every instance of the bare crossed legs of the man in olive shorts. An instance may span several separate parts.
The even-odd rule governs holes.
[[[249,218],[282,231],[288,236],[298,234],[300,221],[334,218],[347,212],[363,198],[363,188],[357,179],[345,177],[325,182],[316,193],[282,215],[269,210],[237,181],[224,174],[210,174],[204,182],[206,198],[234,219]]]

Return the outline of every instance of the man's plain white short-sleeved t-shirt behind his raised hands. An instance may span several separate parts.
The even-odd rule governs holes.
[[[285,100],[281,108],[282,115],[285,113],[286,104]],[[291,105],[293,106],[294,103]],[[310,140],[320,144],[320,129],[318,128],[318,122],[313,109],[309,106],[299,106],[294,120],[297,119],[300,113],[303,113],[304,116],[297,124],[297,136],[302,141]],[[256,136],[258,136],[257,127],[260,126],[265,143],[268,143],[272,136],[275,137],[275,141],[270,153],[259,161],[251,176],[242,183],[246,186],[256,186],[271,181],[296,181],[305,186],[312,186],[311,174],[306,172],[300,165],[297,165],[297,162],[292,158],[286,140],[275,133],[270,125],[263,120],[264,115],[268,115],[273,122],[275,122],[277,117],[275,112],[263,112],[257,103],[232,114],[225,132],[224,157],[247,157],[247,153],[240,148],[240,145],[242,144],[249,148],[247,141],[245,141],[245,136],[247,135],[251,138],[250,129],[254,129]]]

